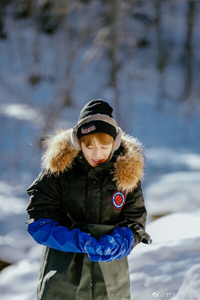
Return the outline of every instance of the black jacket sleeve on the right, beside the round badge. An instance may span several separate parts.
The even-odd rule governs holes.
[[[146,208],[141,190],[141,183],[138,182],[134,190],[126,195],[126,200],[119,215],[119,221],[129,227],[134,235],[135,247],[140,241],[151,243],[150,236],[145,232]],[[120,226],[120,223],[119,223]]]

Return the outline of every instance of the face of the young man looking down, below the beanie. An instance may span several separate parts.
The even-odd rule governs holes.
[[[92,144],[87,147],[83,142],[81,142],[81,148],[87,162],[91,166],[95,167],[108,159],[112,150],[112,143],[102,145],[96,140],[96,138],[94,138]]]

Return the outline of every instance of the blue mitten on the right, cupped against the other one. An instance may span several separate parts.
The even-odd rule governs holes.
[[[128,255],[131,251],[131,247],[134,243],[134,236],[132,234],[132,231],[128,227],[116,227],[114,228],[113,232],[110,234],[114,238],[114,241],[117,246],[115,246],[115,249],[110,251],[110,254],[108,255],[101,255],[100,261],[110,261],[115,259],[121,259],[124,256]],[[102,235],[98,242],[102,245],[104,244],[104,240],[107,238],[107,235]],[[89,254],[88,254],[89,256]],[[96,259],[99,259],[97,255],[92,255],[91,259],[92,261],[95,261]],[[90,257],[89,257],[90,259]],[[90,259],[90,260],[91,260]],[[96,260],[99,261],[99,260]]]

